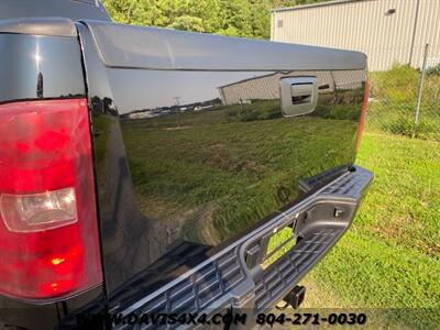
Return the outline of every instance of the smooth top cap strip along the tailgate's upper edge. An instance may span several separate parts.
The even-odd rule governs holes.
[[[352,51],[85,20],[107,67],[177,70],[351,70]],[[233,58],[233,61],[231,61]]]

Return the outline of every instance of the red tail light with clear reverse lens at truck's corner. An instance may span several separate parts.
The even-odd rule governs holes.
[[[102,282],[88,118],[85,99],[0,106],[0,295]]]

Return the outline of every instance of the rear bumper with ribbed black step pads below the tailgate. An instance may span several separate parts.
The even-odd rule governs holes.
[[[135,302],[118,301],[118,307],[111,312],[123,316],[160,312],[213,315],[230,309],[252,314],[270,309],[295,287],[350,227],[373,180],[371,172],[359,166],[353,169],[155,293]],[[298,242],[264,270],[261,264],[267,240],[286,227],[294,229]],[[250,251],[258,253],[258,249],[264,252],[250,265],[246,255]],[[135,329],[155,327],[157,324],[136,324]],[[131,328],[133,324],[116,327]]]

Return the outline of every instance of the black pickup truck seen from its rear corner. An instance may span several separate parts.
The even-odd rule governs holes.
[[[6,329],[251,327],[301,295],[373,178],[361,53],[2,0],[0,77]]]

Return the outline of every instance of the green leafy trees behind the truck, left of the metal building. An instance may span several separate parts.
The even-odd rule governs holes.
[[[271,9],[326,0],[103,0],[116,22],[270,38]]]

